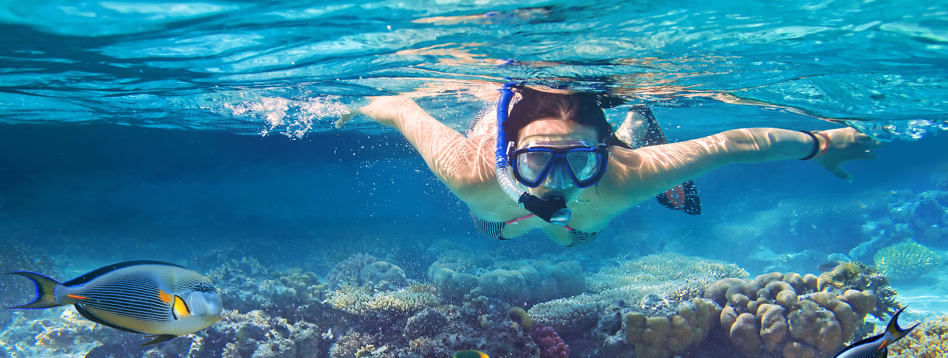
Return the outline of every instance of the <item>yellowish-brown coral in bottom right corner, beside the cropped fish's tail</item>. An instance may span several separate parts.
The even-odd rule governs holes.
[[[948,351],[948,315],[922,322],[888,348],[891,358],[942,358]]]

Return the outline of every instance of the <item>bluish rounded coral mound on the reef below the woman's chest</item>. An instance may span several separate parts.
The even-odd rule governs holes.
[[[495,261],[463,251],[447,251],[428,267],[438,295],[453,301],[485,295],[507,302],[538,303],[579,295],[586,277],[578,261]]]

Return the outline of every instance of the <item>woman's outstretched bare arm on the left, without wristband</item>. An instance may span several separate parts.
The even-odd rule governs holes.
[[[369,105],[342,116],[336,123],[337,128],[356,115],[368,116],[405,135],[428,168],[468,205],[483,197],[485,190],[500,188],[490,156],[496,144],[490,137],[465,138],[405,97],[372,98]]]

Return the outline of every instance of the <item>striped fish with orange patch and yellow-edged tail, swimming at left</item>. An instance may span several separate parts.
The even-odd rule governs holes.
[[[127,261],[102,267],[64,283],[29,271],[7,275],[36,283],[36,298],[7,310],[75,305],[83,317],[104,326],[153,338],[155,345],[201,331],[221,319],[224,307],[208,277],[173,263]]]

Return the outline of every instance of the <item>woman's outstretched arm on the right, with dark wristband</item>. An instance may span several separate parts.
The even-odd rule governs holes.
[[[881,142],[849,127],[813,136],[777,128],[738,129],[637,150],[613,148],[603,185],[641,202],[728,164],[800,159],[814,152],[818,157],[813,162],[851,181],[852,175],[840,166],[856,159],[875,159],[876,154],[868,151],[879,147]]]

